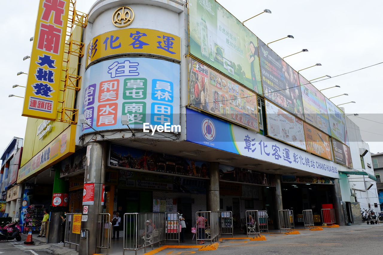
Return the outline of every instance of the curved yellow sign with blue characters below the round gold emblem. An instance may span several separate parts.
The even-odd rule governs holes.
[[[148,53],[181,59],[180,38],[146,28],[126,28],[100,34],[88,45],[87,65],[100,57],[125,53]]]

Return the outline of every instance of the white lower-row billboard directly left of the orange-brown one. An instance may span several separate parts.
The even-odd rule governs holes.
[[[306,149],[303,121],[265,100],[267,135],[301,149]]]

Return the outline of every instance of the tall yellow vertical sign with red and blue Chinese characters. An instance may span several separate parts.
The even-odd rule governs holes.
[[[70,0],[40,0],[23,116],[56,119]]]

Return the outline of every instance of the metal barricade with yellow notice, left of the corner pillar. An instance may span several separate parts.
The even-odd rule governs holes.
[[[65,219],[65,232],[64,232],[64,246],[69,244],[69,248],[72,244],[77,246],[80,245],[80,230],[81,230],[81,217],[82,214],[78,213],[67,213]]]

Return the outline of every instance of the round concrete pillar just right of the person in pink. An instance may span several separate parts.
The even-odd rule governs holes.
[[[219,212],[219,163],[210,163],[210,183],[208,187],[208,211]]]

